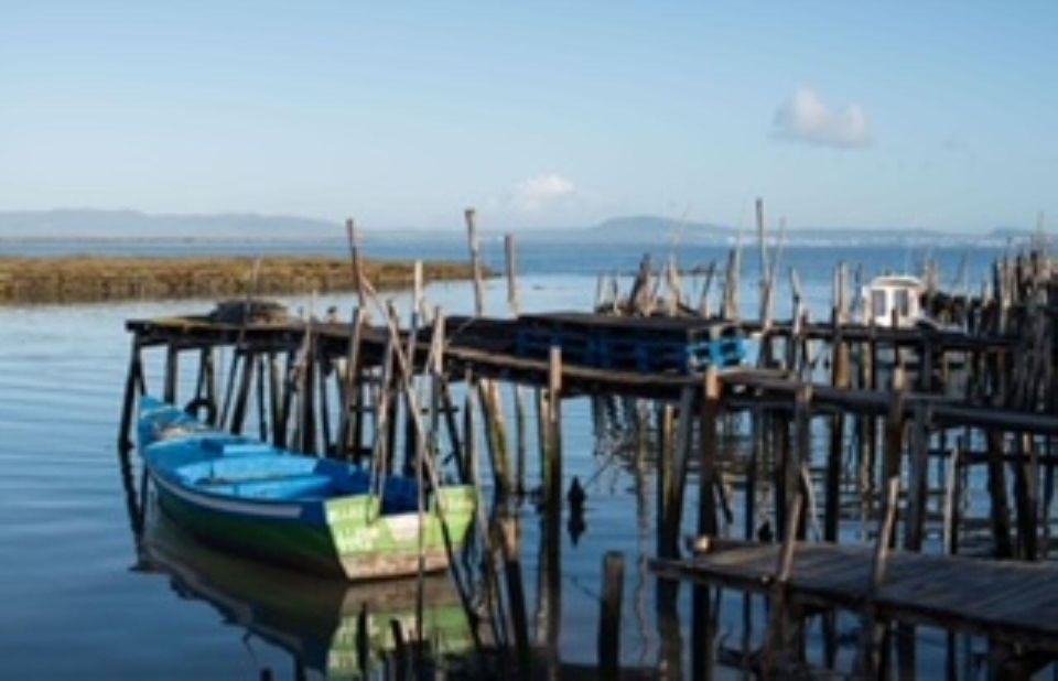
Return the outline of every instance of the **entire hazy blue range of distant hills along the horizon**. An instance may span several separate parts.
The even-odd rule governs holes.
[[[434,241],[463,239],[462,231],[425,231],[414,229],[375,231],[373,238]],[[951,234],[926,229],[838,229],[801,227],[789,229],[786,240],[799,246],[831,246],[855,241],[857,245],[1003,245],[1024,240],[1032,230],[997,228],[987,234]],[[773,228],[769,236],[775,238]],[[499,234],[485,233],[484,238]],[[343,239],[338,221],[256,214],[171,215],[138,210],[23,210],[0,212],[0,242],[3,240],[323,240]],[[569,229],[527,229],[519,240],[559,244],[640,244],[640,245],[728,245],[739,238],[743,244],[756,241],[753,229],[738,230],[713,223],[684,221],[655,215],[615,217],[591,227]]]

